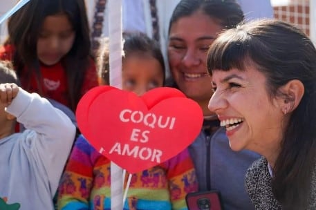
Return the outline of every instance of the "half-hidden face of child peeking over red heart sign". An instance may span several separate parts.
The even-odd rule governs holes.
[[[131,55],[124,59],[122,67],[123,90],[142,95],[163,85],[163,69],[154,57]]]

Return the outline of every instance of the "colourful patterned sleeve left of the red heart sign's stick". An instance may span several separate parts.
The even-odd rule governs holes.
[[[80,135],[71,151],[58,187],[57,205],[60,210],[89,210],[93,185],[93,154],[95,149]]]

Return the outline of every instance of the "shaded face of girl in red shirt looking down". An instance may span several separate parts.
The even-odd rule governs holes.
[[[37,40],[37,57],[47,66],[57,64],[75,40],[75,31],[66,15],[52,15],[44,19]]]

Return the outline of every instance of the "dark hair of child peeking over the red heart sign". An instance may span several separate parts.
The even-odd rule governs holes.
[[[141,32],[124,33],[123,38],[123,61],[131,55],[139,55],[141,57],[151,56],[154,59],[157,59],[162,68],[163,84],[165,84],[165,62],[158,42]],[[109,82],[109,39],[107,38],[102,40],[97,59],[97,66],[99,69],[99,77],[102,77],[104,81]]]

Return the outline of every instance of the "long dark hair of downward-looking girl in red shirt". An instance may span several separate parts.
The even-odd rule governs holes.
[[[32,0],[8,21],[9,38],[6,44],[15,46],[13,65],[19,77],[30,78],[37,75],[37,85],[41,79],[37,58],[37,39],[47,16],[65,14],[73,30],[75,41],[71,50],[62,58],[66,69],[68,93],[71,108],[75,110],[81,97],[82,84],[90,65],[90,35],[84,0]],[[24,68],[28,75],[22,75]],[[27,88],[27,87],[26,87]],[[41,86],[39,86],[41,92]]]

